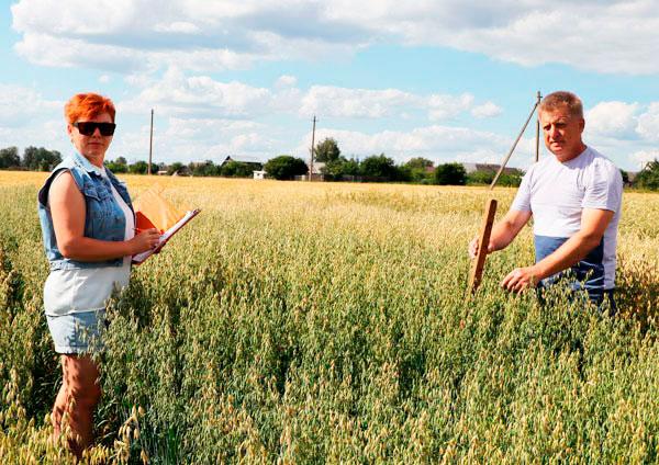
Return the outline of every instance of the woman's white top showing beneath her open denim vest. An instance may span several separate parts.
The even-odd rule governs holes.
[[[112,186],[112,195],[126,218],[124,240],[135,236],[135,218],[129,205],[110,182],[104,168],[97,173],[105,178]],[[44,285],[46,315],[62,316],[82,311],[101,310],[115,287],[122,288],[131,277],[131,257],[124,257],[121,266],[86,268],[76,270],[54,270]]]

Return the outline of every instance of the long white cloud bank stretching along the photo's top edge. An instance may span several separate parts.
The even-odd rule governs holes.
[[[48,66],[235,69],[376,43],[453,47],[524,66],[659,73],[655,0],[19,0],[16,49]],[[99,21],[99,12],[102,20]],[[569,21],[566,21],[569,19]],[[632,34],[630,31],[634,33]],[[48,50],[44,54],[43,50]],[[181,60],[185,61],[181,63]]]

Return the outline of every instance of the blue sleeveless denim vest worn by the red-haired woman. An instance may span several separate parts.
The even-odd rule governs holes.
[[[57,248],[53,217],[48,206],[48,191],[56,174],[63,170],[68,170],[71,173],[74,181],[85,196],[85,237],[98,240],[124,240],[126,218],[114,200],[114,195],[112,195],[110,183],[98,173],[98,169],[87,158],[75,152],[55,167],[43,188],[38,191],[38,219],[42,226],[46,258],[51,262],[51,270],[121,266],[123,263],[121,257],[97,262],[81,262],[65,258]],[[119,181],[110,170],[105,169],[105,173],[119,195],[133,211],[133,204],[125,184]]]

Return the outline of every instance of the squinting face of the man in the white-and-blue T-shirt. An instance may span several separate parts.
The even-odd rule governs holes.
[[[539,117],[545,145],[559,161],[571,160],[585,149],[581,140],[585,122],[582,117],[571,115],[567,105],[540,112]]]

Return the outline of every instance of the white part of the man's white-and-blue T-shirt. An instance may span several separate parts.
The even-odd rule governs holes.
[[[532,212],[538,237],[569,238],[581,229],[583,208],[614,212],[603,238],[604,288],[615,287],[615,250],[621,218],[623,178],[606,157],[588,147],[561,163],[546,157],[526,172],[512,209]]]

